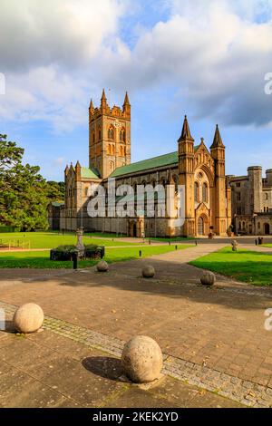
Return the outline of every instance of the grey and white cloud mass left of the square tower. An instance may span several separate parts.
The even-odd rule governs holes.
[[[92,61],[118,31],[126,0],[1,0],[0,57],[6,121],[47,121],[53,131],[87,122]],[[91,71],[91,72],[90,72]]]

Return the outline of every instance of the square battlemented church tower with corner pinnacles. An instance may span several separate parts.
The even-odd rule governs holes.
[[[89,167],[107,179],[118,167],[131,164],[131,104],[126,92],[122,109],[108,105],[105,91],[101,104],[89,108]]]

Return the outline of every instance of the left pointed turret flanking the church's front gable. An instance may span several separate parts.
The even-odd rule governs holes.
[[[180,185],[185,190],[185,222],[182,234],[185,237],[195,236],[194,207],[194,139],[189,131],[189,123],[185,116],[179,144],[179,175]]]

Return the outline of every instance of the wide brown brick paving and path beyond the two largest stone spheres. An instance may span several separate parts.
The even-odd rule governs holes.
[[[199,286],[201,271],[186,262],[219,247],[114,264],[104,275],[93,268],[1,270],[1,300],[10,309],[38,303],[53,334],[115,356],[132,334],[151,335],[165,354],[167,374],[232,401],[268,407],[272,339],[264,312],[272,307],[272,292],[222,276],[214,288]],[[151,280],[141,277],[146,264],[157,271]]]

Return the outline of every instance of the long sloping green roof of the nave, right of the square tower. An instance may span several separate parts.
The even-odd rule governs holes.
[[[198,148],[199,145],[195,147],[195,150],[198,150]],[[153,157],[152,159],[142,160],[129,164],[128,166],[119,167],[112,172],[110,178],[117,178],[122,175],[137,173],[138,171],[158,169],[160,167],[170,166],[171,164],[177,164],[178,161],[178,151],[170,152],[170,154],[160,155],[159,157]]]

